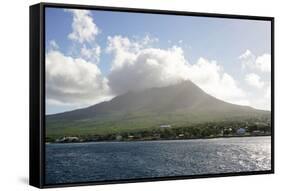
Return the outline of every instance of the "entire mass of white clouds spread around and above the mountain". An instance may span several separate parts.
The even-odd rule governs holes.
[[[215,60],[199,57],[189,63],[181,47],[182,40],[170,47],[156,48],[158,38],[149,35],[107,37],[103,49],[96,39],[101,30],[90,11],[66,10],[72,15],[72,31],[67,36],[72,51],[64,54],[55,40],[49,42],[46,53],[46,95],[51,105],[88,106],[128,91],[163,87],[183,80],[191,80],[206,93],[240,105],[270,109],[270,82],[263,76],[270,74],[271,58],[246,50],[239,56],[244,79],[235,79]],[[105,76],[99,63],[101,54],[112,58]],[[259,75],[257,73],[261,73]],[[244,83],[244,84],[242,84]],[[243,85],[251,87],[246,91]],[[258,95],[251,97],[249,95]],[[268,101],[269,100],[269,101]]]

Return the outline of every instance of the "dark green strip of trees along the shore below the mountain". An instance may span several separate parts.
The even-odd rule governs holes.
[[[239,133],[239,129],[244,129],[244,133]],[[104,129],[104,128],[103,128]],[[155,126],[154,128],[112,128],[105,127],[107,131],[100,129],[95,131],[85,129],[56,134],[46,137],[47,142],[86,142],[86,141],[136,141],[136,140],[169,140],[169,139],[195,139],[213,137],[233,137],[233,136],[257,136],[270,135],[271,125],[269,118],[251,118],[237,121],[217,121],[205,122],[189,125],[171,127]],[[75,137],[75,139],[65,139],[65,137]]]

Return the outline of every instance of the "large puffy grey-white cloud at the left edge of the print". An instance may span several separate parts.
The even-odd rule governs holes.
[[[87,105],[106,99],[108,93],[107,79],[95,64],[59,51],[47,53],[46,95],[50,102]]]

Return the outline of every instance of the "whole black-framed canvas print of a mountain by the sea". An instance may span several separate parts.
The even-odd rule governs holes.
[[[274,172],[274,18],[30,7],[30,184]]]

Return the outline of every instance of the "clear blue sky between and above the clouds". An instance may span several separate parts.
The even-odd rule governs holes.
[[[199,58],[215,60],[245,91],[252,89],[243,80],[247,73],[241,69],[241,56],[246,50],[255,55],[270,54],[270,22],[241,19],[222,19],[192,16],[172,16],[110,11],[91,11],[89,14],[100,32],[95,44],[101,48],[98,68],[102,75],[110,73],[114,56],[106,52],[108,37],[120,35],[129,39],[146,35],[157,38],[153,48],[169,49],[178,46],[190,64]],[[46,46],[55,41],[65,56],[73,56],[73,15],[60,8],[46,8]],[[79,45],[81,46],[81,45]],[[47,52],[49,49],[47,48]],[[254,71],[256,73],[256,71]],[[269,83],[270,74],[260,72],[260,79]],[[254,90],[253,90],[254,91]],[[47,113],[57,113],[75,107],[47,104]]]

